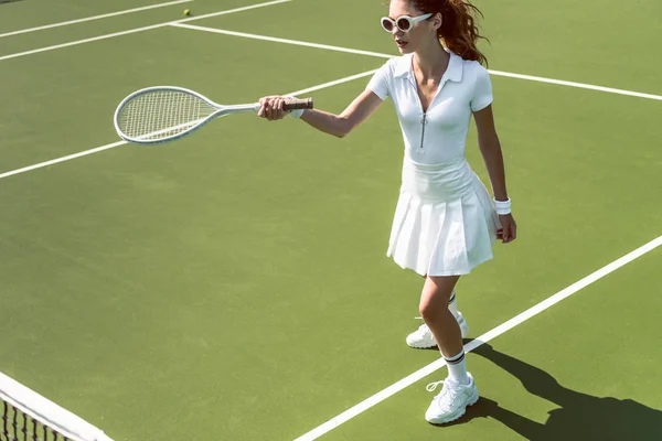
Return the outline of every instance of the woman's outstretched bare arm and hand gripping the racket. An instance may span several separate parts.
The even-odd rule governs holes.
[[[261,108],[257,115],[268,119],[269,121],[284,118],[287,115],[282,110],[285,99],[287,98],[260,98],[259,104],[261,105]],[[376,96],[372,90],[366,89],[359,95],[340,115],[334,115],[318,109],[307,109],[303,111],[303,115],[301,115],[301,119],[316,129],[323,131],[324,133],[344,138],[354,128],[359,127],[372,114],[374,114],[382,103],[383,101],[378,96]]]

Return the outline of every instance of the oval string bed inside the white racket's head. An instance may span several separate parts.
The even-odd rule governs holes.
[[[159,140],[202,122],[216,109],[181,90],[154,90],[137,96],[119,114],[119,128],[130,138]]]

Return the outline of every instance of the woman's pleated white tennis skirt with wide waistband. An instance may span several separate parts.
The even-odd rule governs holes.
[[[386,252],[402,268],[468,275],[493,257],[499,228],[492,197],[463,157],[433,165],[405,159]]]

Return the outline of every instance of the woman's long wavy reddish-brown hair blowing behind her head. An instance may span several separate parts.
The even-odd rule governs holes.
[[[467,0],[408,0],[424,13],[441,13],[441,28],[437,35],[451,52],[465,60],[473,60],[487,66],[488,58],[478,49],[478,41],[485,40],[480,34],[477,19],[482,12]]]

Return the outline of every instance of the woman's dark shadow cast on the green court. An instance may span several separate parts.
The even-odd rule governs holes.
[[[490,417],[528,440],[662,440],[662,411],[631,399],[594,397],[568,389],[546,372],[482,344],[473,351],[522,381],[524,388],[558,406],[544,424],[481,397],[455,423]]]

